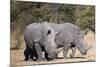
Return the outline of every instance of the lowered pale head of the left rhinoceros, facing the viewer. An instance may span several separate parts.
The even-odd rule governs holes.
[[[48,24],[47,22],[43,23],[44,27],[44,45],[45,50],[48,53],[49,58],[55,58],[56,54],[60,52],[60,50],[57,49],[57,45],[55,43],[55,36],[57,32],[55,32]],[[58,32],[59,33],[59,32]]]

